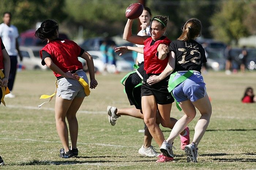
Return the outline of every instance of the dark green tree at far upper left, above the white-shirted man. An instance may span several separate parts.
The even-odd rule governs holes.
[[[12,13],[12,24],[19,32],[35,28],[36,22],[52,18],[62,22],[67,18],[63,11],[65,0],[1,0],[0,11]]]

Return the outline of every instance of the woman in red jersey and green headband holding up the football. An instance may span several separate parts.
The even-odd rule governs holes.
[[[163,127],[172,129],[177,121],[176,119],[170,119],[170,110],[174,99],[171,96],[171,93],[167,90],[169,77],[166,77],[164,80],[154,85],[149,85],[147,83],[147,79],[150,76],[162,73],[169,60],[169,54],[166,54],[166,50],[168,49],[166,48],[166,45],[169,46],[171,41],[164,35],[167,22],[167,16],[155,16],[150,23],[151,36],[138,36],[132,34],[131,28],[133,20],[128,19],[123,36],[123,38],[129,42],[144,45],[145,73],[141,90],[142,112],[144,115],[144,122],[159,146],[161,146],[164,141],[164,136],[156,123],[157,110]],[[181,135],[185,135],[187,140],[184,142],[189,143],[188,128],[182,131]],[[172,161],[171,158],[168,158],[165,155],[162,155],[159,160],[161,161],[158,162]]]

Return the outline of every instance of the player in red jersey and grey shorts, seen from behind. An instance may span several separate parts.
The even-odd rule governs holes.
[[[59,24],[54,20],[45,20],[35,32],[35,36],[47,40],[47,45],[40,51],[42,65],[53,70],[58,80],[55,101],[55,120],[58,135],[63,147],[61,158],[71,158],[78,155],[76,142],[78,138],[78,121],[76,112],[80,108],[85,96],[90,94],[89,81],[83,72],[82,63],[78,57],[86,60],[90,74],[90,88],[94,89],[98,83],[94,77],[93,58],[81,49],[75,42],[59,39]],[[71,147],[68,142],[68,120]]]

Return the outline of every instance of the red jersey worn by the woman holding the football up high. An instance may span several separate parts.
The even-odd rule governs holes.
[[[169,57],[166,57],[163,60],[158,59],[157,47],[160,44],[169,46],[171,41],[167,37],[164,37],[164,39],[157,40],[153,45],[151,45],[152,41],[153,39],[151,37],[144,41],[144,70],[146,70],[147,74],[162,73],[167,66]]]

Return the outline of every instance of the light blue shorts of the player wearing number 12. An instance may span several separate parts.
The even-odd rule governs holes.
[[[185,73],[186,72],[178,72],[173,78],[173,81]],[[173,89],[173,96],[178,102],[186,100],[196,101],[206,96],[207,93],[205,85],[203,76],[199,72],[194,72],[192,76]]]

